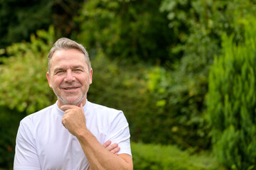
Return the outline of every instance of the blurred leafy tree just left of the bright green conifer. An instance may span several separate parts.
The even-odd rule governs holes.
[[[169,28],[181,40],[172,48],[172,53],[183,54],[178,62],[165,65],[171,69],[173,79],[166,89],[169,96],[166,106],[173,108],[178,132],[183,134],[181,140],[209,148],[209,127],[204,115],[209,66],[213,57],[221,52],[223,32],[235,33],[236,42],[243,40],[243,28],[238,21],[246,13],[256,14],[255,3],[249,0],[163,0],[160,11],[168,12]]]

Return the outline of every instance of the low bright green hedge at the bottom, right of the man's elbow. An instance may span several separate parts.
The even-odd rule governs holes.
[[[135,170],[222,170],[213,155],[184,152],[173,145],[145,145],[132,142]]]

